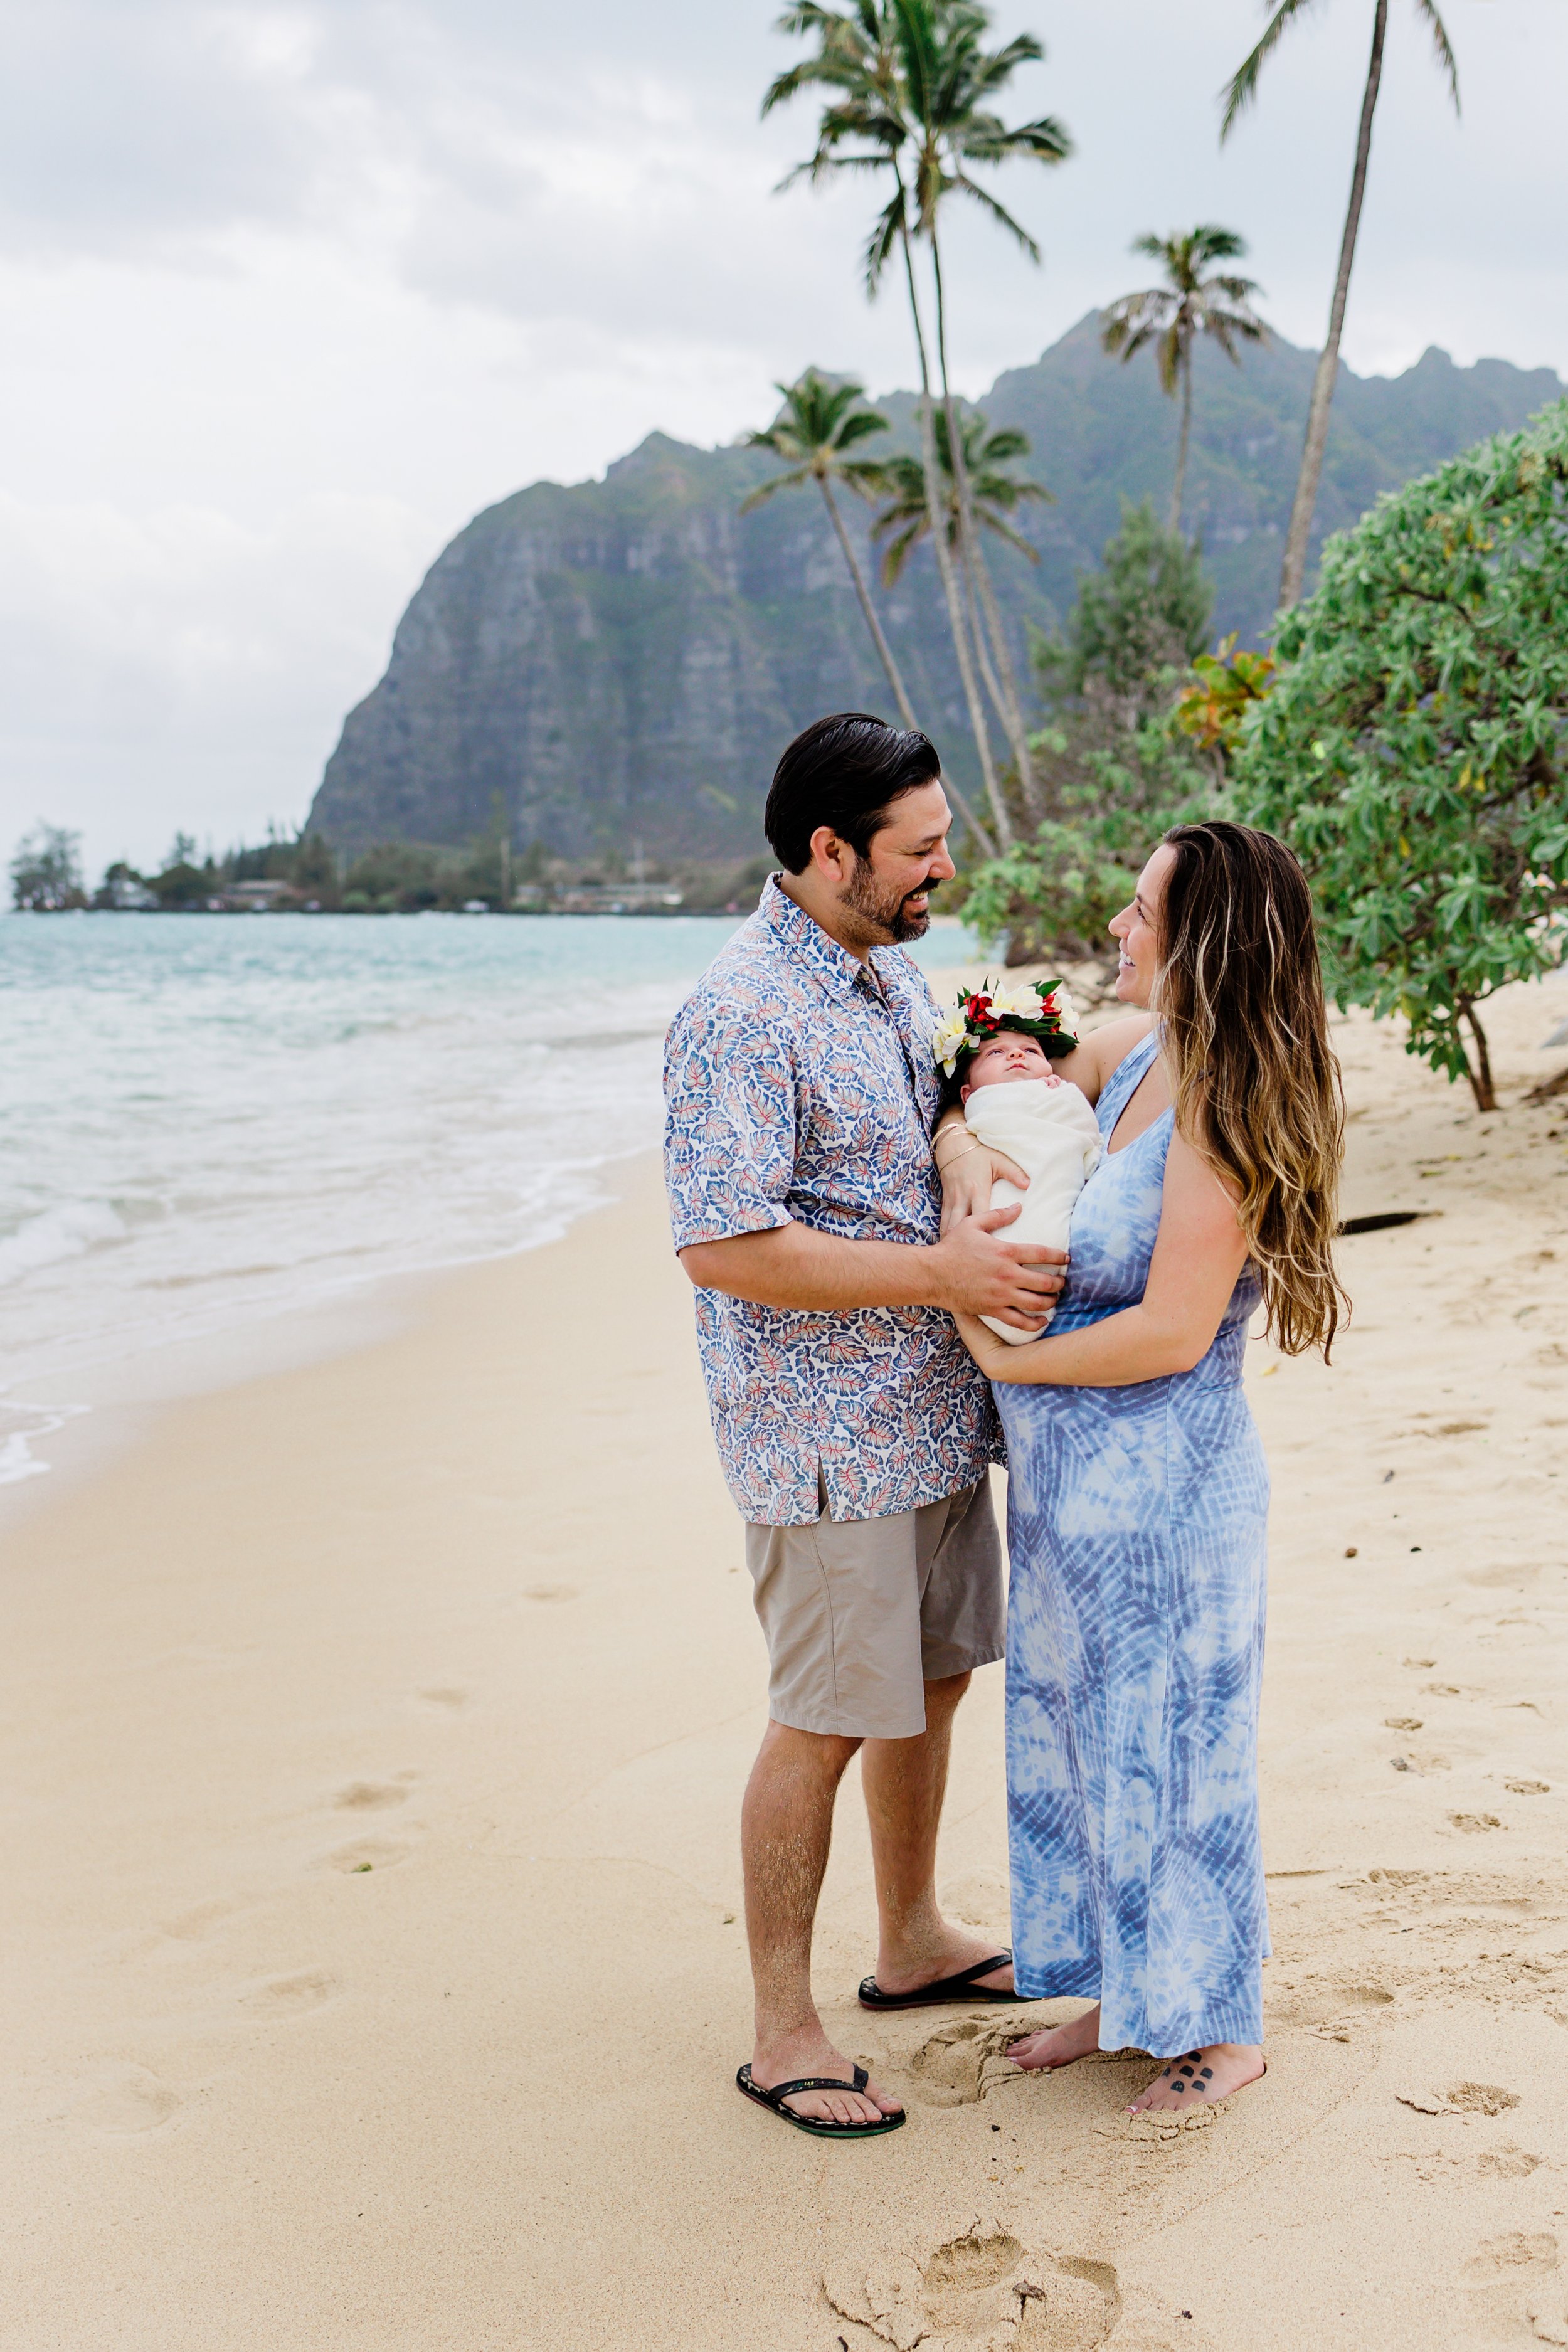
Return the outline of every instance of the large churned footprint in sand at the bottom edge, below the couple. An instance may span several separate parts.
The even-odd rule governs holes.
[[[985,2223],[924,2256],[832,2265],[823,2291],[839,2319],[898,2352],[1095,2352],[1121,2310],[1110,2263],[1030,2256]]]

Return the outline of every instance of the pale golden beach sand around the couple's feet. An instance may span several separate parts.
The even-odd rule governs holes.
[[[1486,1120],[1338,1033],[1347,1207],[1427,1216],[1345,1242],[1333,1367],[1251,1350],[1269,2074],[1204,2129],[1121,2119],[1140,2060],[1011,2074],[1030,2011],[863,2016],[856,1785],[818,1987],[910,2126],[736,2098],[764,1661],[654,1164],[33,1496],[0,2347],[1568,2345],[1563,1011],[1497,1007]],[[1004,1933],[997,1668],[940,1882]]]

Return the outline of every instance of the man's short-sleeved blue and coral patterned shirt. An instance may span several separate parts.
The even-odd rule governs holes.
[[[936,1002],[900,948],[875,978],[769,880],[665,1042],[675,1247],[773,1225],[936,1242]],[[882,983],[882,985],[877,985]],[[818,1315],[696,1294],[729,1491],[759,1526],[882,1519],[1001,1458],[990,1385],[938,1308]]]

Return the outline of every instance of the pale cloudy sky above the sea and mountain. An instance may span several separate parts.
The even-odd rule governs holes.
[[[724,442],[816,362],[912,381],[870,306],[865,183],[776,193],[811,106],[780,0],[0,0],[0,851],[89,875],[303,821],[425,567],[524,482],[661,428]],[[1429,343],[1568,374],[1568,0],[1443,0],[1462,120],[1392,0],[1345,358]],[[1013,118],[1058,169],[994,186],[1034,268],[954,221],[980,393],[1145,282],[1133,235],[1251,240],[1316,346],[1371,0],[1319,0],[1218,146],[1255,0],[997,0]]]

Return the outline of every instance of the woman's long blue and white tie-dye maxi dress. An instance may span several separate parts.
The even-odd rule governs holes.
[[[1147,1037],[1112,1073],[1107,1143],[1154,1054]],[[1143,1298],[1171,1124],[1166,1110],[1084,1185],[1053,1334]],[[1034,1999],[1098,1994],[1100,2049],[1262,2042],[1269,1477],[1241,1395],[1255,1305],[1248,1268],[1192,1371],[997,1388],[1013,1966]]]

